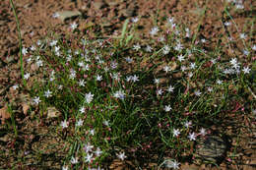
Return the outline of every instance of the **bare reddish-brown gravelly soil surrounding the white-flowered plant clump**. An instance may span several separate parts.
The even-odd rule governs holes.
[[[158,15],[158,20],[162,21],[164,18],[174,17],[176,21],[182,21],[191,30],[196,30],[199,24],[200,36],[210,40],[209,49],[214,49],[219,39],[221,43],[225,43],[226,39],[222,34],[226,33],[223,23],[229,21],[224,16],[224,0],[208,1],[205,0],[15,0],[18,17],[21,24],[21,33],[23,37],[23,44],[26,47],[36,42],[39,37],[45,36],[49,30],[68,32],[70,24],[76,22],[80,29],[86,28],[90,23],[98,26],[98,31],[102,35],[109,35],[120,32],[125,19],[133,17],[140,17],[140,31],[146,32],[151,29],[155,23],[153,22]],[[253,4],[254,3],[254,4]],[[233,13],[232,18],[238,28],[248,28],[248,21],[251,21],[253,14],[255,15],[256,1],[244,1],[244,11],[241,13]],[[202,17],[200,13],[203,8],[207,7],[206,14]],[[82,13],[81,16],[66,20],[65,22],[59,19],[54,19],[52,15],[55,12],[62,10],[78,10]],[[253,11],[254,10],[254,11]],[[47,146],[47,142],[53,144],[62,141],[55,138],[50,132],[50,127],[56,126],[57,122],[35,123],[30,120],[31,115],[24,114],[23,99],[24,91],[13,91],[10,86],[21,83],[19,71],[19,40],[18,30],[14,14],[11,10],[9,0],[2,0],[0,3],[0,109],[6,103],[16,101],[17,122],[19,138],[15,139],[12,132],[8,132],[4,126],[1,125],[0,134],[0,169],[10,168],[11,165],[16,164],[15,169],[59,169],[61,166],[61,156],[64,155],[61,149],[55,147],[49,149],[48,154],[57,155],[57,159],[48,159],[36,157],[32,155],[30,161],[23,164],[22,157],[32,152],[26,150],[38,149],[42,146]],[[254,16],[255,17],[255,16]],[[251,28],[252,30],[255,28]],[[242,30],[239,30],[242,31]],[[234,27],[230,28],[231,35],[237,37],[240,33]],[[253,32],[255,37],[255,31]],[[251,41],[255,44],[255,38],[252,36]],[[241,53],[239,44],[237,50],[230,54],[238,55]],[[221,169],[256,169],[256,126],[251,123],[255,117],[247,115],[240,115],[237,119],[230,119],[229,127],[222,128],[231,139],[231,147],[227,153],[226,160],[220,165]],[[246,126],[241,125],[241,122]],[[245,123],[244,123],[245,122]],[[236,141],[239,136],[239,142]],[[13,143],[19,144],[14,145]],[[234,151],[235,149],[235,151]],[[234,155],[230,155],[234,153]],[[229,155],[229,157],[228,157]],[[47,156],[47,155],[44,155]],[[230,156],[233,156],[232,159]],[[8,159],[7,159],[8,158]],[[229,160],[229,161],[228,161]],[[21,163],[23,162],[23,163]],[[116,164],[114,166],[113,164]],[[37,166],[40,165],[40,166]],[[112,169],[117,168],[118,162],[113,161]],[[123,165],[120,165],[120,167]],[[146,167],[150,165],[146,165]],[[39,168],[38,168],[39,167]],[[182,165],[181,169],[185,169],[186,165]],[[189,166],[192,168],[192,165]],[[201,167],[193,165],[195,169],[213,169],[207,168],[205,165]],[[121,168],[119,168],[121,169]],[[127,169],[127,168],[126,168]],[[128,168],[129,169],[129,168]],[[147,169],[147,168],[146,168]]]

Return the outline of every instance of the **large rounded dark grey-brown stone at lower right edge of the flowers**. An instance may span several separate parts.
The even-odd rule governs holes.
[[[206,136],[197,143],[196,157],[204,161],[218,163],[224,158],[226,142],[218,136]]]

